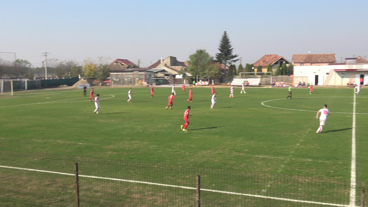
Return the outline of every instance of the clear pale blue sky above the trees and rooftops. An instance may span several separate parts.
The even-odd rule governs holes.
[[[34,66],[108,56],[149,66],[160,57],[215,56],[223,31],[244,63],[278,54],[368,55],[368,1],[1,0],[0,51]]]

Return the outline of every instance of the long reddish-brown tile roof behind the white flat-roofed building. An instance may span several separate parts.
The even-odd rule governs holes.
[[[335,53],[322,54],[294,54],[294,66],[324,66],[336,63]]]

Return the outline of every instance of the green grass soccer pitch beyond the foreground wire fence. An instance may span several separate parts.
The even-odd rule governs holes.
[[[149,88],[132,88],[132,103],[128,90],[96,88],[100,115],[82,90],[1,97],[1,151],[350,181],[355,136],[356,181],[368,182],[364,88],[354,102],[351,88],[315,88],[313,94],[293,88],[293,99],[286,99],[287,88],[246,88],[246,94],[236,88],[229,98],[230,87],[218,87],[217,105],[210,109],[210,88],[193,88],[189,103],[189,88],[183,93],[178,87],[172,110],[165,109],[171,88],[155,87],[153,98]],[[324,104],[331,114],[317,134],[315,116]],[[188,105],[190,125],[181,131]],[[24,167],[15,158],[0,165]]]

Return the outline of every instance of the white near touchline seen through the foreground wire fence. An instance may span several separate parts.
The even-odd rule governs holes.
[[[29,168],[17,168],[17,167],[11,167],[11,166],[3,166],[3,165],[0,165],[0,168],[20,169],[20,170],[27,170],[27,171],[47,172],[47,173],[54,173],[54,174],[59,174],[59,175],[70,175],[70,176],[74,176],[74,174],[72,174],[72,173],[45,171],[45,170],[37,170],[37,169],[29,169]],[[195,187],[167,185],[167,184],[162,184],[162,183],[151,183],[151,182],[144,182],[144,181],[137,181],[137,180],[125,180],[125,179],[117,179],[117,178],[104,178],[104,177],[89,176],[89,175],[79,175],[79,176],[80,177],[84,177],[84,178],[96,178],[96,179],[105,179],[105,180],[116,180],[116,181],[130,182],[130,183],[143,183],[143,184],[148,184],[148,185],[177,187],[177,188],[191,189],[191,190],[196,190],[197,189]],[[253,194],[245,194],[245,193],[234,193],[234,192],[221,191],[221,190],[210,190],[210,189],[201,189],[201,190],[208,191],[208,192],[215,192],[215,193],[225,193],[225,194],[233,194],[233,195],[240,195],[240,196],[258,197],[258,198],[263,198],[263,199],[275,199],[275,200],[293,201],[293,202],[298,202],[298,203],[312,203],[312,204],[320,204],[320,205],[328,205],[328,206],[351,207],[350,205],[343,205],[343,204],[322,203],[322,202],[316,202],[316,201],[296,200],[296,199],[285,199],[285,198],[270,197],[270,196],[259,196],[259,195],[253,195]]]

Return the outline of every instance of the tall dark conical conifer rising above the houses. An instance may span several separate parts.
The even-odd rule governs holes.
[[[221,37],[218,49],[219,53],[216,53],[216,62],[223,64],[225,69],[229,63],[231,64],[239,60],[236,59],[238,55],[233,55],[233,48],[226,31],[224,31]]]

